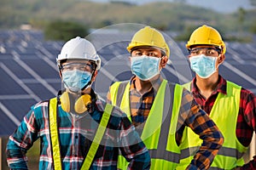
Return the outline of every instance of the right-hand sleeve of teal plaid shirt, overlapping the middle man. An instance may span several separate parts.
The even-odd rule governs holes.
[[[119,149],[122,156],[130,162],[128,169],[149,169],[148,149],[125,113],[123,115],[119,124]]]

